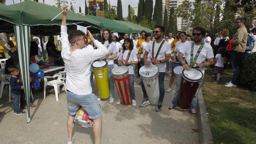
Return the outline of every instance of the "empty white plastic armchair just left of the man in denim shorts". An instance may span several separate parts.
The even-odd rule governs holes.
[[[65,85],[65,83],[64,83],[65,74],[66,74],[66,72],[60,72],[58,74],[54,74],[52,77],[44,77],[44,80],[45,80],[45,84],[44,84],[44,99],[45,99],[45,89],[46,89],[46,86],[49,85],[49,86],[53,86],[54,87],[56,101],[59,100],[58,94],[60,93],[60,86],[61,85]],[[47,79],[55,78],[55,77],[58,77],[58,78],[54,79],[52,81],[47,81]]]

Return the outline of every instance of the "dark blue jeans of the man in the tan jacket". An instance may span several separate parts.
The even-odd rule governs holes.
[[[232,83],[237,85],[240,77],[240,66],[243,62],[243,52],[230,51],[230,58],[232,62],[232,69],[234,70]]]

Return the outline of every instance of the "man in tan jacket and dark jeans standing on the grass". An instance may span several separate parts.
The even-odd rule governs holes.
[[[237,19],[235,22],[237,27],[237,32],[233,37],[232,45],[235,46],[233,51],[230,51],[230,58],[232,62],[232,69],[234,70],[233,79],[230,82],[225,83],[225,87],[237,87],[240,77],[240,66],[243,62],[243,54],[246,50],[246,43],[247,43],[247,30],[245,28],[246,19],[241,17]]]

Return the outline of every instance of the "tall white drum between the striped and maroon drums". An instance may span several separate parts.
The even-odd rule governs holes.
[[[141,67],[140,76],[143,81],[148,99],[152,104],[157,104],[159,99],[158,67],[155,65]]]

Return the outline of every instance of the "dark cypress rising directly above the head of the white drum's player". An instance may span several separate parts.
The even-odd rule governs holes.
[[[157,0],[154,7],[153,20],[156,22],[156,25],[163,24],[163,2],[161,0]]]

